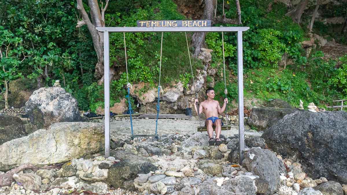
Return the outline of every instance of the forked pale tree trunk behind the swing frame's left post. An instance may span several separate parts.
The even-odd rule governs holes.
[[[77,22],[76,27],[81,27],[83,25],[87,25],[89,33],[92,35],[94,50],[96,52],[96,56],[98,57],[98,62],[95,65],[95,77],[97,79],[102,79],[104,76],[104,36],[103,32],[97,31],[96,27],[105,27],[105,19],[104,14],[105,10],[108,7],[109,0],[106,0],[106,5],[101,6],[101,11],[99,9],[97,0],[88,0],[88,5],[90,8],[90,15],[92,18],[92,22],[89,19],[87,12],[83,7],[82,0],[77,0],[77,9],[82,15],[82,20]],[[113,69],[113,67],[110,67]],[[111,78],[112,79],[112,78]],[[99,83],[100,83],[99,80]],[[103,80],[103,79],[102,79]]]

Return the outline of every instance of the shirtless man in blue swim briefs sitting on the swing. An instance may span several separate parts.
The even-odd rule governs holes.
[[[207,133],[209,134],[209,137],[210,137],[209,145],[213,146],[214,143],[216,145],[220,145],[222,141],[220,140],[219,136],[222,131],[221,129],[222,129],[223,123],[222,123],[222,120],[218,118],[218,115],[219,114],[221,115],[224,112],[228,103],[228,98],[224,99],[224,104],[221,108],[219,105],[219,102],[216,100],[213,100],[215,96],[213,88],[208,88],[206,90],[206,95],[207,95],[207,100],[201,102],[199,106],[199,113],[196,108],[196,102],[198,102],[198,99],[195,99],[194,109],[198,115],[201,112],[204,112],[206,116],[205,126],[207,128]],[[215,140],[212,137],[212,133],[213,133],[212,126],[215,126],[215,132],[216,132]]]

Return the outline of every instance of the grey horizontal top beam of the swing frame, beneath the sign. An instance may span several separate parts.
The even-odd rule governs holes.
[[[100,32],[238,32],[249,27],[96,27]]]

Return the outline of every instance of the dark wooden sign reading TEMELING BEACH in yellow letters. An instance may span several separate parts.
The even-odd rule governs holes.
[[[211,20],[137,20],[137,27],[211,27]]]

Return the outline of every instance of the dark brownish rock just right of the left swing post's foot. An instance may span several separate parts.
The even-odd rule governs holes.
[[[120,160],[113,164],[108,171],[107,181],[113,187],[124,187],[124,182],[135,179],[139,173],[155,171],[156,167],[146,158],[125,151],[111,151],[110,156]]]

